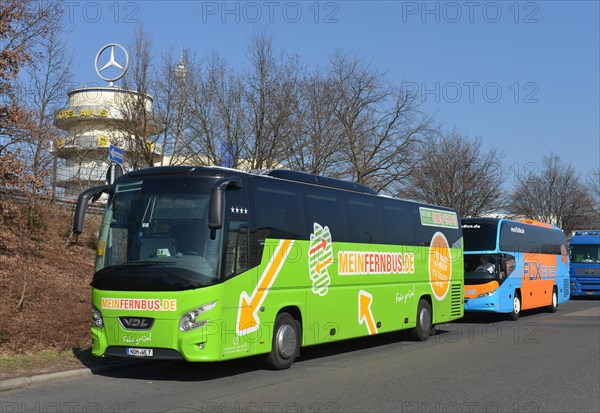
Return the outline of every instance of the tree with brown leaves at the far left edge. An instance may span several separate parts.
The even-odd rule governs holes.
[[[0,189],[16,192],[29,201],[26,208],[21,208],[0,192],[0,220],[6,230],[12,232],[13,244],[17,244],[17,249],[26,257],[23,271],[10,274],[22,279],[16,310],[23,309],[28,295],[28,257],[39,248],[39,238],[36,240],[35,235],[43,230],[44,219],[35,202],[43,181],[32,173],[31,162],[23,153],[24,145],[31,142],[32,136],[39,136],[39,129],[22,96],[16,93],[18,74],[35,61],[32,52],[35,45],[60,15],[60,4],[54,1],[0,2]],[[25,214],[26,220],[19,219]],[[9,297],[3,299],[8,301]]]

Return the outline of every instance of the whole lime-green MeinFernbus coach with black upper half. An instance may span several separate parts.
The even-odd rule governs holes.
[[[129,172],[107,193],[92,280],[92,353],[188,361],[264,354],[462,317],[456,211],[289,170]]]

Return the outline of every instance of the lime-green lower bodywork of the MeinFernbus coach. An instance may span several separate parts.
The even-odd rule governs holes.
[[[188,361],[268,353],[275,318],[285,308],[301,318],[304,346],[412,328],[422,297],[432,304],[434,324],[463,316],[462,249],[448,248],[451,278],[440,287],[446,291],[441,297],[430,280],[430,261],[436,258],[429,247],[338,242],[329,247],[311,260],[319,249],[314,243],[268,239],[258,267],[195,290],[93,289],[104,327],[92,327],[92,352],[102,356],[109,346],[172,349]],[[387,253],[379,272],[390,273],[377,273],[372,253]],[[356,259],[351,263],[353,257],[364,258],[365,267]],[[185,313],[214,301],[198,318],[206,320],[202,327],[179,330]],[[128,330],[118,317],[147,317],[154,323],[148,330]]]

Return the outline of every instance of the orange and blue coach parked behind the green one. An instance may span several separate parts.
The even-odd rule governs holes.
[[[567,239],[556,226],[532,220],[463,218],[465,311],[509,314],[567,301]]]

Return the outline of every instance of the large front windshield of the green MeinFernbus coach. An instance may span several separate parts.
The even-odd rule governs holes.
[[[218,281],[220,233],[210,237],[214,182],[148,177],[115,185],[100,230],[99,289],[184,290]]]

